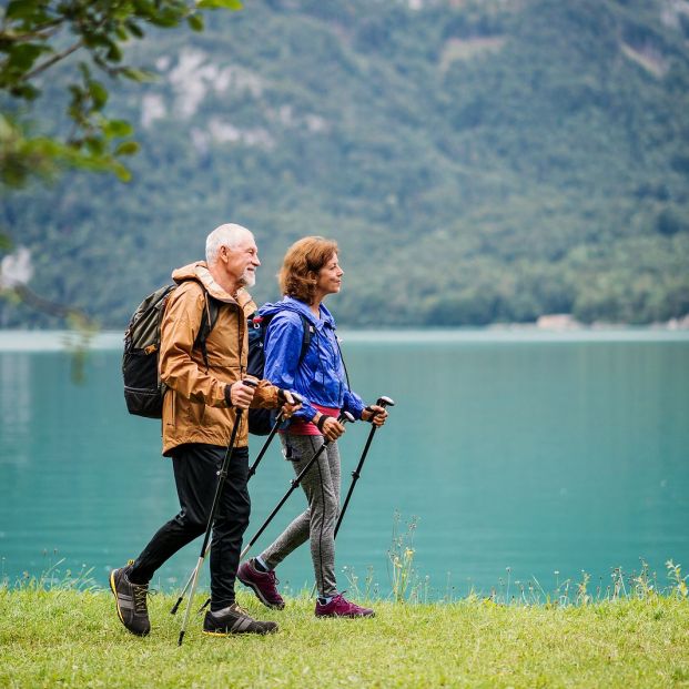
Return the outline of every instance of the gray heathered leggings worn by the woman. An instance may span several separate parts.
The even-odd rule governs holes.
[[[281,435],[285,457],[298,474],[323,445],[320,435]],[[320,596],[337,592],[335,580],[335,524],[340,514],[340,452],[337,443],[331,443],[318,460],[302,479],[308,508],[268,546],[261,559],[271,568],[311,540],[311,558]]]

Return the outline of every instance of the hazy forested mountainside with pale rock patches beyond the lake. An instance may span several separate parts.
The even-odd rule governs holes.
[[[689,2],[247,0],[214,21],[132,47],[160,79],[111,94],[131,183],[3,196],[36,292],[122,327],[232,221],[257,301],[292,241],[336,239],[345,325],[689,313]],[[0,324],[58,323],[0,301]]]

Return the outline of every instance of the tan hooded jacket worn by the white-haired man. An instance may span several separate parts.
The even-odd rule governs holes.
[[[163,455],[184,443],[229,444],[236,409],[227,407],[225,387],[246,373],[246,316],[256,308],[245,290],[236,300],[227,294],[202,261],[178,268],[172,278],[180,286],[168,300],[161,325],[160,377],[169,388],[163,399]],[[203,287],[221,302],[206,340],[207,371],[200,348],[193,347],[206,307]],[[280,406],[277,388],[261,381],[252,406]],[[235,447],[247,445],[246,416]]]

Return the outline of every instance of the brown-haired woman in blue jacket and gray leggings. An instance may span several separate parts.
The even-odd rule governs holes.
[[[317,617],[369,617],[363,608],[337,591],[335,579],[335,524],[340,511],[340,452],[337,438],[344,433],[337,422],[341,412],[382,426],[387,412],[366,406],[346,382],[337,344],[335,320],[324,306],[328,294],[342,286],[344,271],[337,260],[337,244],[308,236],[293,244],[280,272],[282,302],[260,311],[270,317],[265,333],[265,378],[284,389],[300,393],[305,401],[281,435],[285,457],[298,474],[325,439],[330,440],[301,486],[308,508],[259,557],[242,563],[237,578],[251,587],[271,608],[283,608],[277,592],[275,567],[306,540],[311,544],[318,598]],[[308,348],[302,354],[304,327],[308,324]]]

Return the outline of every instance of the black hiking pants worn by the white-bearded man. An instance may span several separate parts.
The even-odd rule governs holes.
[[[225,447],[200,443],[181,445],[171,452],[180,513],[164,524],[134,561],[130,580],[148,584],[153,573],[180,548],[205,534],[217,488],[217,472]],[[242,536],[249,525],[251,501],[246,488],[249,449],[232,452],[227,478],[211,539],[211,609],[234,602],[234,579],[240,564]]]

